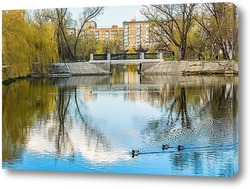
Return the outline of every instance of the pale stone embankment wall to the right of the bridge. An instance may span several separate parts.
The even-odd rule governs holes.
[[[145,75],[238,74],[238,63],[233,61],[164,61],[142,70]]]

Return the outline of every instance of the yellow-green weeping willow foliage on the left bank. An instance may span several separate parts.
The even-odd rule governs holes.
[[[3,11],[3,80],[29,75],[35,62],[42,68],[57,61],[53,26],[30,22],[26,15],[23,10]]]

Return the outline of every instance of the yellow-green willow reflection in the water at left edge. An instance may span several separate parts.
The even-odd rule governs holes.
[[[57,88],[46,79],[21,80],[3,85],[2,90],[2,155],[11,166],[22,160],[37,120],[48,119],[53,112]]]

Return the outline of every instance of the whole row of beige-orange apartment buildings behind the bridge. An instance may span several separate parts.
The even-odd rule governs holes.
[[[123,27],[113,25],[110,28],[98,28],[96,22],[89,21],[85,24],[81,38],[85,35],[95,36],[99,41],[123,41],[124,50],[148,50],[158,44],[156,36],[151,31],[157,31],[148,21],[125,21]],[[75,34],[77,29],[68,28],[69,34]],[[154,36],[154,37],[153,37]]]

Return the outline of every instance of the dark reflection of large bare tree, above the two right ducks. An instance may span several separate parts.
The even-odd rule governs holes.
[[[167,88],[169,90],[167,90]],[[185,86],[170,85],[166,87],[166,84],[164,84],[161,91],[149,91],[149,98],[151,102],[159,101],[159,104],[165,111],[164,116],[159,120],[151,120],[149,122],[149,127],[145,129],[148,135],[154,133],[155,138],[153,138],[152,141],[162,141],[173,131],[175,131],[175,138],[187,130],[193,132],[192,120],[188,113],[189,109],[187,107]],[[181,128],[178,127],[179,125]],[[176,128],[179,129],[177,130]]]

